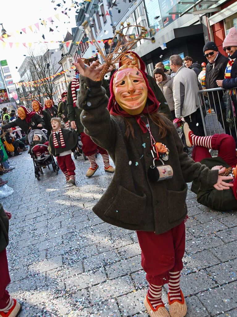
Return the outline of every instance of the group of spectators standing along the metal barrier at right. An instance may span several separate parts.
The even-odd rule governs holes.
[[[204,135],[199,107],[202,104],[208,107],[209,111],[213,109],[225,133],[233,135],[237,144],[234,124],[237,99],[236,90],[232,90],[237,87],[235,28],[229,30],[223,41],[223,50],[228,57],[219,52],[216,43],[207,42],[203,48],[204,58],[207,61],[203,61],[201,65],[190,56],[182,60],[179,55],[172,55],[169,65],[157,63],[153,74],[167,100],[173,119],[183,118],[194,133]],[[211,91],[202,94],[199,98],[199,90],[218,87],[228,89],[228,92],[223,95],[218,91]],[[204,116],[205,114],[204,110]]]

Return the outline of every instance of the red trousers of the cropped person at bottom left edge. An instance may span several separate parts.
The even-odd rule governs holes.
[[[0,252],[0,309],[7,306],[7,301],[9,300],[9,293],[6,287],[10,283],[11,279],[9,276],[7,254],[6,249]]]

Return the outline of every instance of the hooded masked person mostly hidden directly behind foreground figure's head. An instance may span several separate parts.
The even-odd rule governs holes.
[[[130,58],[128,57],[128,55]],[[172,114],[160,87],[156,84],[154,78],[146,73],[145,64],[143,60],[137,55],[137,53],[128,51],[126,55],[122,56],[119,61],[119,67],[122,65],[135,66],[146,76],[149,86],[155,94],[156,99],[160,102],[160,107],[158,111],[161,113],[165,113],[167,115],[167,118],[172,121]]]

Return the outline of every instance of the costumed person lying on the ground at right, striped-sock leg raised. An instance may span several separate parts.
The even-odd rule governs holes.
[[[211,170],[220,170],[223,175],[234,175],[231,183],[234,186],[226,191],[217,191],[214,187],[201,189],[200,184],[192,184],[191,191],[197,194],[197,202],[211,209],[220,211],[237,209],[237,179],[235,140],[228,134],[214,134],[207,137],[195,135],[184,123],[184,134],[187,146],[194,146],[192,159],[205,164]],[[217,150],[218,156],[212,157],[209,149]],[[222,174],[221,174],[222,175]]]

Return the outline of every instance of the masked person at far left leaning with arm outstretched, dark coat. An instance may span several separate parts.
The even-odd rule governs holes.
[[[22,131],[26,133],[26,141],[27,141],[27,134],[30,130],[42,128],[45,126],[44,120],[39,116],[38,113],[33,111],[30,112],[24,106],[21,106],[17,109],[18,118],[14,121],[11,121],[3,126],[0,127],[1,129],[9,129],[13,126],[19,126]]]

